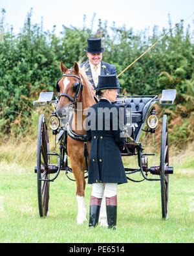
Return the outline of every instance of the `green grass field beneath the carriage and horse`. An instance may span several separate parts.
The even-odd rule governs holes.
[[[47,218],[39,218],[36,141],[27,141],[0,146],[0,242],[194,242],[193,145],[184,154],[171,157],[169,219],[162,220],[158,181],[129,181],[118,187],[118,223],[110,231],[100,226],[89,229],[88,222],[76,224],[76,184],[63,172],[50,183]],[[155,159],[151,158],[149,166]],[[124,163],[129,165],[129,159]],[[87,185],[87,217],[90,195],[91,185]]]

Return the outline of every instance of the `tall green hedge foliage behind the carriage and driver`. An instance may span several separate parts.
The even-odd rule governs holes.
[[[148,29],[134,32],[126,27],[116,27],[115,23],[107,26],[107,21],[98,20],[98,28],[93,29],[95,14],[91,28],[85,27],[86,16],[83,17],[83,28],[65,27],[60,36],[55,27],[43,31],[43,23],[32,24],[32,10],[27,14],[23,29],[14,34],[12,27],[5,29],[5,10],[0,17],[0,129],[1,133],[20,134],[27,132],[33,123],[32,101],[38,99],[41,91],[54,91],[55,82],[61,75],[59,63],[63,60],[67,67],[85,56],[83,49],[87,46],[87,38],[102,37],[103,60],[116,65],[117,73],[121,73],[129,64],[144,53],[153,43],[171,29],[158,32],[154,27],[152,34]],[[193,117],[193,67],[194,44],[193,31],[184,23],[171,31],[151,51],[132,65],[122,76],[120,84],[125,92],[136,95],[159,95],[162,89],[177,89],[175,106],[169,110],[169,121],[172,117],[183,117],[186,123]],[[162,111],[166,111],[161,108]],[[173,115],[176,113],[176,116]],[[176,134],[193,139],[194,128],[186,124],[176,127]],[[184,131],[182,131],[182,129]],[[183,135],[181,135],[183,132]],[[173,136],[176,137],[176,134]]]

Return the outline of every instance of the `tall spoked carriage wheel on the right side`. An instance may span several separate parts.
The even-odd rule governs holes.
[[[165,169],[169,166],[169,147],[167,143],[167,116],[164,115],[162,121],[162,137],[160,152],[160,186],[162,200],[162,218],[167,220],[168,216],[168,199],[169,199],[169,175],[165,174]]]

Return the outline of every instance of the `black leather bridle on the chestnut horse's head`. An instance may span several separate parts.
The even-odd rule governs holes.
[[[70,69],[70,71],[71,71],[71,69]],[[81,81],[81,76],[76,76],[76,75],[74,75],[72,73],[70,73],[70,74],[63,74],[63,76],[71,76],[73,78],[78,78],[80,80],[80,82],[79,82],[78,80],[75,79],[76,82],[74,83],[74,86],[73,86],[73,89],[76,92],[75,99],[72,99],[72,97],[70,97],[70,95],[68,95],[67,93],[61,93],[61,94],[58,95],[58,100],[61,97],[65,96],[65,97],[67,97],[72,102],[72,106],[74,107],[74,104],[76,103],[76,101],[78,100],[78,97],[80,95],[80,91],[81,91],[81,95],[82,95],[83,83]],[[61,78],[63,78],[63,76],[61,76]],[[59,80],[61,80],[61,78],[59,78]],[[58,85],[59,80],[56,82],[56,89],[57,89],[58,93],[59,93],[59,85]]]

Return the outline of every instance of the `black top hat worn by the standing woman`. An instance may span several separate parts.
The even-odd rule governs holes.
[[[116,82],[116,75],[98,76],[98,86],[94,89],[100,91],[102,89],[122,89]]]

